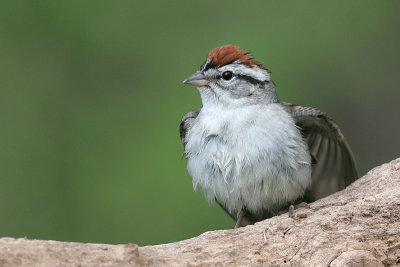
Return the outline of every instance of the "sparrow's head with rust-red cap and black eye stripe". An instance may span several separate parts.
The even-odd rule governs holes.
[[[233,45],[211,50],[200,70],[183,83],[198,88],[204,106],[278,101],[270,72]]]

